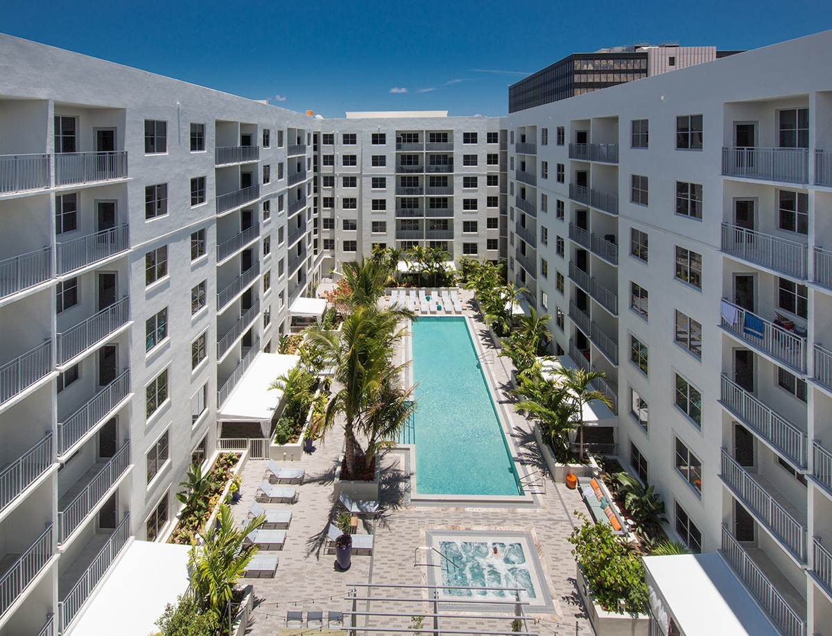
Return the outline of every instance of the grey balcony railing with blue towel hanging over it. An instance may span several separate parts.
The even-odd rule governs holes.
[[[798,373],[806,372],[806,339],[722,299],[721,326],[755,350],[784,362]]]

